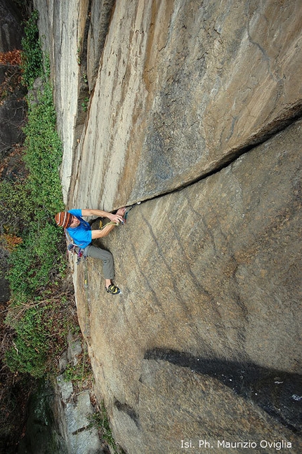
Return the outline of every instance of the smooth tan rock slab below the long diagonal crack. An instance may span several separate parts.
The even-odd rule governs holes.
[[[96,390],[128,452],[181,452],[169,449],[189,433],[258,442],[271,434],[298,453],[300,168],[298,121],[214,175],[133,208],[102,242],[122,288],[114,301],[101,265],[88,260]],[[74,273],[83,330],[84,268]],[[150,375],[157,361],[177,366],[181,402],[173,374],[145,400],[147,360]],[[195,384],[206,407],[192,398]]]

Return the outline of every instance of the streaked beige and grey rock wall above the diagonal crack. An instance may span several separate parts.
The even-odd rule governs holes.
[[[70,206],[169,192],[301,113],[301,14],[298,1],[118,2]]]

